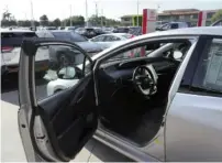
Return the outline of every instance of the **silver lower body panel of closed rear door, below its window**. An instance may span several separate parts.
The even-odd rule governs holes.
[[[166,123],[166,161],[221,161],[222,98],[177,93]]]

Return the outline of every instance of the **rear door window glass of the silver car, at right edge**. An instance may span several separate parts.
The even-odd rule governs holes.
[[[195,76],[195,87],[222,93],[222,39],[208,42]]]

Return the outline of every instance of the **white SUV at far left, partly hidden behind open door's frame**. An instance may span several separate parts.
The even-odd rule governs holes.
[[[20,51],[22,41],[26,37],[37,37],[31,30],[1,29],[1,77],[19,70]],[[40,48],[36,54],[36,77],[42,78],[48,69],[48,50]]]

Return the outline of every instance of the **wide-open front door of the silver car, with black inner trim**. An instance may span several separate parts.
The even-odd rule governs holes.
[[[66,90],[37,99],[35,55],[49,46],[78,52],[81,78]],[[75,54],[75,53],[74,53]],[[77,54],[77,53],[76,53]],[[79,54],[82,57],[79,57]],[[41,55],[41,54],[38,54]],[[82,59],[80,59],[82,58]],[[80,62],[82,61],[82,62]],[[29,162],[75,159],[98,126],[92,73],[85,74],[90,57],[78,45],[54,39],[30,39],[22,43],[19,69],[19,130]]]

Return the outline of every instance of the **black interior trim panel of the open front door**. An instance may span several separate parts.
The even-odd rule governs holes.
[[[58,145],[63,149],[62,151],[66,151],[64,153],[67,153],[68,156],[71,155],[66,149],[75,145],[73,144],[75,142],[85,141],[85,138],[81,137],[84,132],[89,132],[87,137],[92,137],[97,128],[97,120],[95,120],[97,117],[93,116],[96,112],[91,112],[91,107],[96,105],[95,101],[89,100],[93,97],[93,90],[89,88],[93,88],[92,84],[88,84],[91,78],[75,86],[68,93],[57,94],[56,97],[53,96],[38,104],[43,122],[48,124],[46,126],[48,129],[53,128],[48,137],[56,137]],[[58,99],[56,102],[55,98]],[[52,106],[52,104],[54,105]],[[90,122],[88,123],[87,120],[90,120]],[[85,131],[86,129],[90,130]],[[76,131],[78,131],[78,135],[75,135]]]

